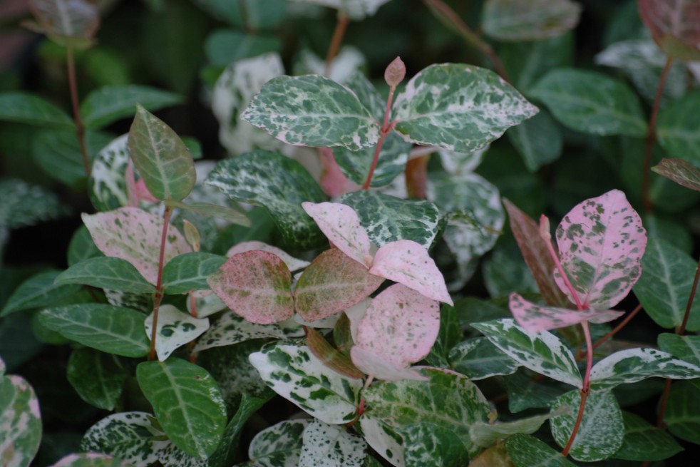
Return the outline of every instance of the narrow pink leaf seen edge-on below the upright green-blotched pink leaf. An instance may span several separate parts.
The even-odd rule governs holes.
[[[548,331],[560,327],[572,326],[584,321],[604,323],[617,319],[624,312],[616,312],[612,309],[567,309],[559,307],[540,307],[540,305],[528,302],[515,292],[510,294],[510,312],[515,321],[527,332]]]

